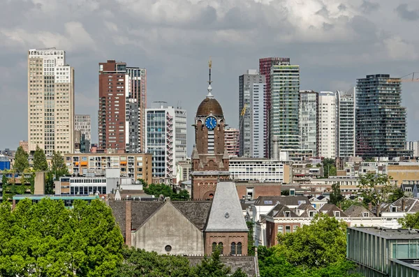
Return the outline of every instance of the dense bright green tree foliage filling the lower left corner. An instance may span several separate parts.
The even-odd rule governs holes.
[[[0,276],[112,276],[124,239],[100,200],[0,204]]]

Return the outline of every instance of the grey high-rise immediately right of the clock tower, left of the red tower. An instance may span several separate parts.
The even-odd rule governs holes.
[[[265,133],[265,75],[247,70],[239,77],[239,156],[263,158],[269,143]]]

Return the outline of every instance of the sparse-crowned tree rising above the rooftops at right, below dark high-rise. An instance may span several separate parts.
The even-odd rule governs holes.
[[[365,204],[371,202],[373,206],[379,207],[381,203],[388,202],[390,195],[395,190],[395,186],[390,184],[391,179],[386,174],[360,175],[358,188]],[[378,210],[377,214],[379,214]]]

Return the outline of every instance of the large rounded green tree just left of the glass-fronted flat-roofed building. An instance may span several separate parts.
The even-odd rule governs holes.
[[[346,227],[344,221],[317,214],[310,225],[279,233],[275,248],[295,266],[328,267],[346,258]]]

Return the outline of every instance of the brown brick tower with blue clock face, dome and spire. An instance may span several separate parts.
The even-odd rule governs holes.
[[[228,153],[224,147],[227,126],[220,103],[212,96],[211,67],[207,97],[200,103],[195,117],[195,147],[192,151],[192,199],[212,199],[218,181],[230,179]]]

